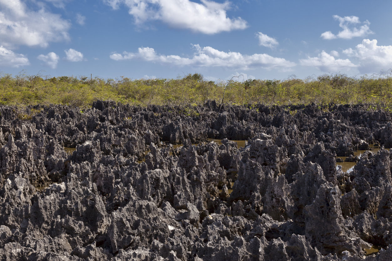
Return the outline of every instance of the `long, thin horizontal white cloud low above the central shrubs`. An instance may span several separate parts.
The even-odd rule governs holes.
[[[239,52],[223,52],[212,47],[200,47],[192,45],[196,50],[192,58],[185,58],[177,55],[158,55],[150,47],[140,47],[138,52],[123,52],[119,54],[114,52],[110,58],[116,61],[126,59],[142,59],[145,61],[159,62],[178,66],[199,66],[199,67],[227,67],[238,69],[249,68],[279,68],[289,70],[296,64],[283,58],[272,57],[268,54],[245,55]]]

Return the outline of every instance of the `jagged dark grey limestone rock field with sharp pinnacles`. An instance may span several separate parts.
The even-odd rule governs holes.
[[[389,113],[32,110],[0,106],[2,260],[392,260]]]

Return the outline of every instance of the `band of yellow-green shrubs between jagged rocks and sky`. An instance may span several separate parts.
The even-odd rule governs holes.
[[[238,78],[236,78],[238,79]],[[0,75],[0,104],[89,106],[97,99],[148,104],[365,104],[392,110],[392,70],[363,77],[323,74],[283,80],[205,81],[201,74],[177,79],[102,79]]]

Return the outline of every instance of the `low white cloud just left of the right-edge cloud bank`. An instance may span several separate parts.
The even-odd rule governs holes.
[[[354,65],[349,59],[335,59],[334,56],[322,51],[317,57],[309,57],[307,59],[300,59],[299,63],[304,66],[316,67],[323,72],[329,70],[338,71],[341,69],[349,70],[350,68],[358,67]]]

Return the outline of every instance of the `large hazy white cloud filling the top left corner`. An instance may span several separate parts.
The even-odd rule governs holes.
[[[7,48],[47,47],[49,42],[69,40],[70,26],[60,14],[49,13],[44,7],[32,11],[21,0],[0,0],[0,44]]]

